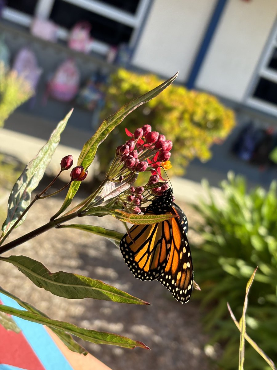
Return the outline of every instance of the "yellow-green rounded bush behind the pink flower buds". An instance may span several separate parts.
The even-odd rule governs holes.
[[[161,82],[155,75],[138,75],[119,69],[111,76],[107,87],[102,118]],[[99,148],[102,170],[113,155],[108,151],[127,140],[124,127],[134,132],[137,127],[149,124],[152,131],[163,131],[166,138],[174,142],[170,159],[174,164],[171,174],[182,175],[192,159],[206,161],[211,157],[209,147],[227,137],[235,125],[235,119],[233,111],[223,107],[215,97],[171,85],[155,99],[137,108],[125,118],[124,123],[109,135],[109,143]]]

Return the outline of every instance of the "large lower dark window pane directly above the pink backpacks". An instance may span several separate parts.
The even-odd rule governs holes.
[[[129,26],[62,0],[55,0],[50,19],[68,30],[79,21],[88,21],[92,25],[91,36],[110,45],[128,42],[133,31]]]

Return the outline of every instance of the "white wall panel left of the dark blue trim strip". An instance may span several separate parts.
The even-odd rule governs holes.
[[[132,64],[185,82],[215,2],[155,0]]]

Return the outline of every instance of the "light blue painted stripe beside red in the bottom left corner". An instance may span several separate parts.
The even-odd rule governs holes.
[[[16,301],[2,293],[0,293],[0,300],[4,305],[23,310],[23,308],[18,305]],[[40,359],[42,365],[45,367],[45,370],[73,370],[71,365],[68,363],[64,355],[58,349],[52,338],[41,324],[23,320],[16,316],[13,316],[13,319],[22,330],[25,338],[28,340],[28,343],[33,348],[37,357]],[[2,370],[1,367],[0,370]]]

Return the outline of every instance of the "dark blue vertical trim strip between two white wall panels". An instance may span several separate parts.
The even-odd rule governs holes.
[[[205,58],[206,53],[208,51],[208,48],[211,44],[213,35],[215,34],[216,27],[218,26],[218,22],[220,20],[220,17],[222,15],[222,12],[224,10],[224,7],[225,7],[227,1],[228,0],[218,0],[218,2],[215,5],[215,9],[213,10],[213,14],[212,14],[211,19],[209,21],[208,27],[206,28],[206,31],[205,31],[205,36],[202,39],[202,42],[201,42],[201,45],[199,47],[198,53],[196,55],[196,58],[194,60],[193,65],[192,65],[188,81],[186,83],[186,87],[188,89],[194,88],[196,78],[198,76],[198,73],[200,71],[202,63],[204,61],[204,58]]]

